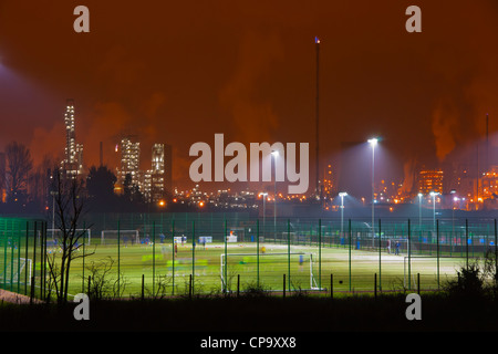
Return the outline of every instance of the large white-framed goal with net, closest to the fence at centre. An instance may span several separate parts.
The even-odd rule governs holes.
[[[307,252],[227,253],[227,257],[221,253],[221,291],[234,288],[234,279],[237,275],[243,277],[246,282],[259,279],[271,289],[282,289],[283,274],[287,278],[286,283],[290,281],[293,288],[302,284],[301,290],[319,290],[313,268],[313,254]]]

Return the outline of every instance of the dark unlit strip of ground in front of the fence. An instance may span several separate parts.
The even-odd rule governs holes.
[[[422,294],[422,320],[407,320],[406,295],[240,296],[90,303],[76,321],[76,303],[0,305],[0,331],[180,333],[317,333],[377,331],[497,331],[498,302],[488,298]]]

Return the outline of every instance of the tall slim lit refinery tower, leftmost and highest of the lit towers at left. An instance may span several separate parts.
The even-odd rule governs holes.
[[[83,173],[83,145],[76,143],[75,121],[74,101],[68,100],[64,112],[65,149],[61,167],[71,177]]]

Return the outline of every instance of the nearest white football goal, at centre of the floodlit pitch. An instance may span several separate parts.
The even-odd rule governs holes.
[[[307,267],[304,266],[305,263]],[[320,290],[317,279],[313,274],[313,254],[307,252],[279,252],[279,253],[225,253],[220,254],[220,278],[221,278],[221,291],[227,291],[230,288],[234,271],[238,267],[251,268],[252,277],[270,278],[273,282],[280,283],[280,277],[287,274],[287,277],[295,275],[295,278],[304,279],[308,281],[309,289]],[[257,269],[257,270],[256,270]],[[307,269],[307,270],[304,270]],[[290,271],[290,274],[289,274]],[[242,270],[245,275],[248,274],[247,270]],[[298,275],[299,274],[299,275]],[[289,279],[289,278],[288,278]]]

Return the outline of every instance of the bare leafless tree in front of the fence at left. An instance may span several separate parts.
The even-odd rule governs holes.
[[[58,303],[68,302],[68,290],[71,264],[75,259],[89,257],[94,252],[81,252],[82,240],[86,230],[82,228],[82,217],[85,210],[83,198],[83,180],[69,177],[58,168],[52,175],[52,191],[54,198],[55,227],[60,230],[58,246],[60,252],[49,258],[49,274],[51,288],[54,290]],[[90,226],[87,226],[90,227]]]

